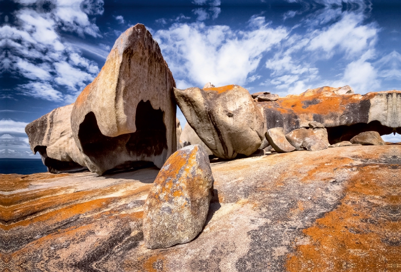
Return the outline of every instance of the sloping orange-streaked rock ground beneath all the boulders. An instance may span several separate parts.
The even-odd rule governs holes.
[[[401,146],[212,161],[193,241],[143,245],[158,170],[1,175],[3,271],[399,271]]]

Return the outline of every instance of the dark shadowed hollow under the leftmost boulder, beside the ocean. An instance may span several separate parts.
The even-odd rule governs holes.
[[[53,174],[79,172],[88,170],[88,168],[81,166],[75,162],[62,162],[52,159],[47,156],[46,146],[37,146],[34,151],[39,152],[42,157],[43,164],[47,167],[48,171]]]

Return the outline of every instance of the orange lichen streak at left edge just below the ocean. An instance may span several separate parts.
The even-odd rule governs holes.
[[[52,180],[61,177],[67,177],[71,174],[51,174],[51,173],[37,173],[31,175],[20,174],[0,174],[0,191],[11,192],[19,189],[28,188],[32,181],[37,180]]]

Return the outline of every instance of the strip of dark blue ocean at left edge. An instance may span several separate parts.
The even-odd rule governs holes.
[[[41,159],[0,159],[0,174],[34,174],[47,172]]]

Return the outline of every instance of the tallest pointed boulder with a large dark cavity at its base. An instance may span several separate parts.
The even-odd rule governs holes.
[[[162,167],[176,150],[175,82],[143,25],[115,42],[99,75],[71,113],[74,139],[89,170]]]

